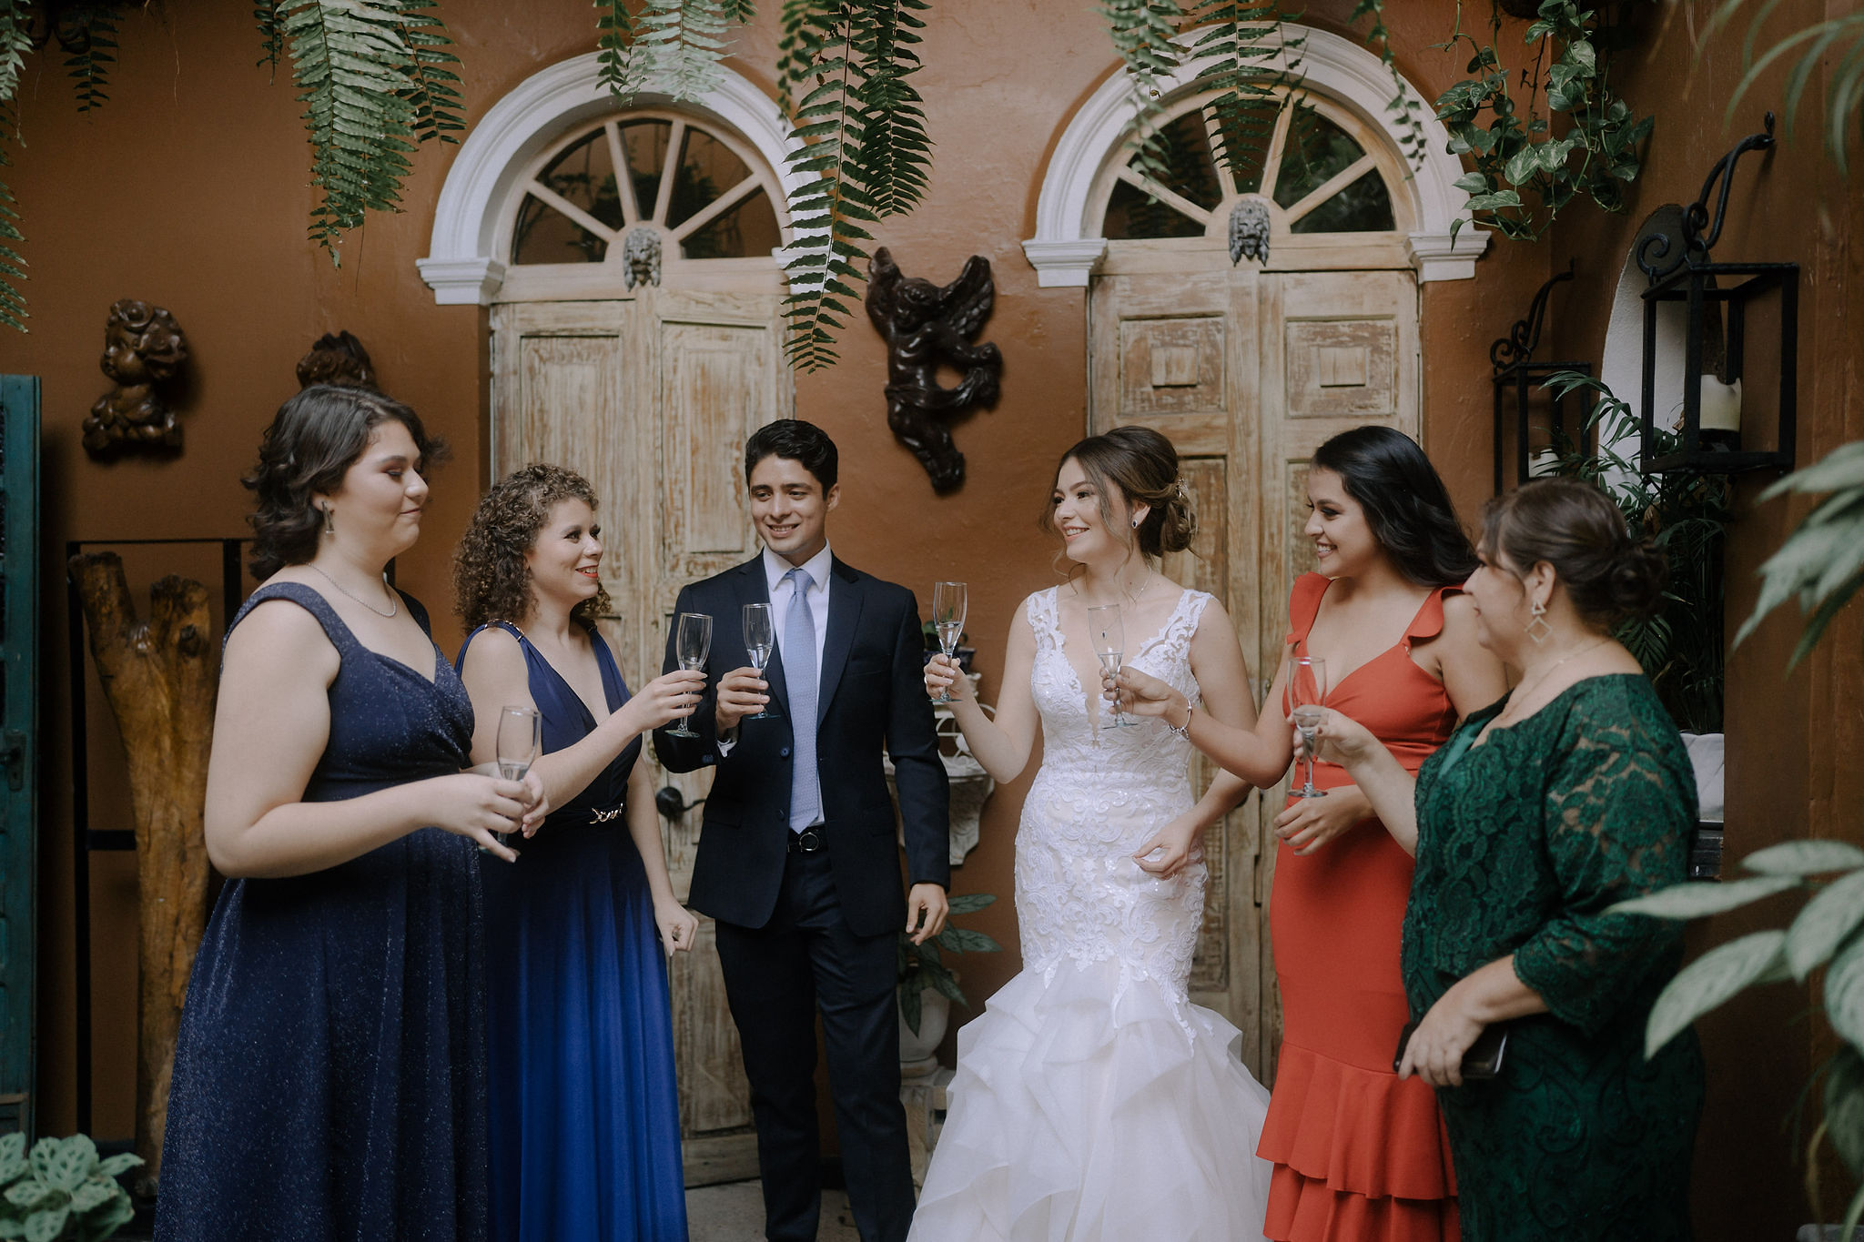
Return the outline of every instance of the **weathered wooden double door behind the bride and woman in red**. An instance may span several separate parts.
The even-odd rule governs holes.
[[[1089,423],[1144,425],[1176,445],[1199,536],[1165,572],[1225,601],[1260,698],[1282,655],[1288,588],[1314,568],[1301,534],[1309,458],[1364,423],[1419,434],[1417,279],[1232,270],[1221,251],[1197,266],[1182,251],[1163,264],[1111,259],[1089,298]],[[1199,765],[1202,788],[1212,769]],[[1268,896],[1284,790],[1253,797],[1206,838],[1191,966],[1195,1000],[1241,1028],[1243,1060],[1264,1082],[1281,1043]]]

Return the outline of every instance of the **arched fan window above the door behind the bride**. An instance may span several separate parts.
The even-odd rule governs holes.
[[[1159,121],[1161,169],[1128,142],[1100,179],[1102,236],[1117,240],[1225,240],[1232,209],[1262,203],[1271,235],[1366,235],[1415,227],[1405,169],[1374,127],[1310,91],[1269,112],[1249,145],[1254,160],[1234,173],[1217,162],[1215,95],[1199,95]]]

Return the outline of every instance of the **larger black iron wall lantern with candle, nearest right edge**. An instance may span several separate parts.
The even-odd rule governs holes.
[[[1655,227],[1637,242],[1637,263],[1650,277],[1644,290],[1644,387],[1638,402],[1642,443],[1638,462],[1646,475],[1696,471],[1735,475],[1750,469],[1793,467],[1793,423],[1799,385],[1799,264],[1715,263],[1709,251],[1722,235],[1728,190],[1735,162],[1748,151],[1773,149],[1773,114],[1765,132],[1748,134],[1709,169],[1702,194],[1681,214],[1679,227]],[[1717,182],[1720,188],[1717,192]],[[1709,196],[1715,194],[1715,216]],[[1683,318],[1681,408],[1676,439],[1659,445],[1659,419],[1672,412],[1657,406],[1657,335],[1666,305],[1679,305]],[[1769,315],[1771,311],[1771,315]],[[1670,311],[1674,315],[1674,311]],[[1773,322],[1769,322],[1773,320]],[[1775,447],[1756,445],[1754,428],[1743,443],[1741,408],[1750,412],[1769,376],[1758,372],[1771,350],[1752,350],[1778,331],[1778,385]],[[1743,393],[1743,378],[1758,380]],[[1752,425],[1752,417],[1747,423]],[[1670,428],[1665,428],[1670,430]]]

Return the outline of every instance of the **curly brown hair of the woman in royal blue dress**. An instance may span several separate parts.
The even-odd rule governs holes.
[[[531,572],[524,557],[537,547],[537,534],[559,501],[582,501],[591,512],[598,506],[587,479],[542,462],[505,475],[481,497],[453,553],[453,611],[466,629],[494,620],[518,624],[529,614]],[[608,590],[596,587],[570,616],[593,626],[610,607]]]

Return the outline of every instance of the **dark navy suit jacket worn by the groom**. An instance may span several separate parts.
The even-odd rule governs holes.
[[[764,670],[772,719],[742,721],[738,741],[723,758],[714,715],[718,678],[747,663],[742,609],[770,601],[764,559],[753,557],[680,590],[677,613],[712,618],[706,693],[690,721],[699,737],[669,737],[662,728],[654,732],[654,752],[675,773],[718,765],[693,860],[693,909],[740,927],[762,927],[775,909],[788,851],[794,730],[816,730],[835,892],[848,929],[872,937],[906,925],[882,747],[893,756],[906,868],[915,884],[951,884],[949,793],[925,693],[925,642],[913,594],[839,559],[831,574],[816,719],[790,717],[783,618],[775,618],[779,650]],[[667,626],[665,670],[678,667],[675,637],[677,629]]]

